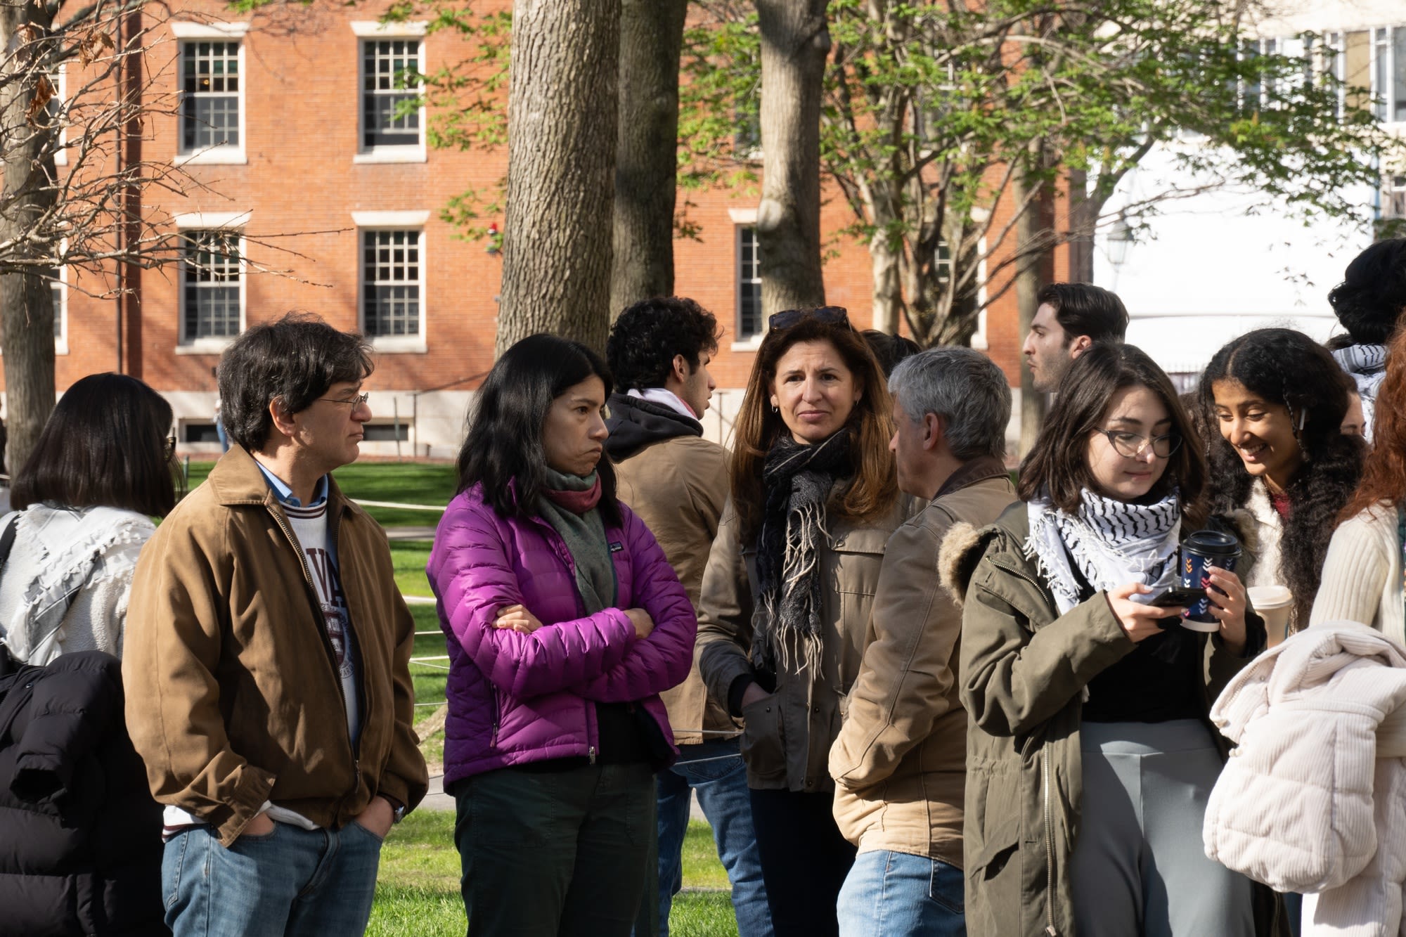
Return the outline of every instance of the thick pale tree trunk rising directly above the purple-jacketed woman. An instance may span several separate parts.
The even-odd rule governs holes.
[[[620,0],[516,0],[498,349],[610,325]]]

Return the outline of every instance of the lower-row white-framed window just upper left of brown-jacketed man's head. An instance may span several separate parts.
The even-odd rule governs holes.
[[[180,343],[218,350],[245,326],[243,236],[235,228],[181,231]]]

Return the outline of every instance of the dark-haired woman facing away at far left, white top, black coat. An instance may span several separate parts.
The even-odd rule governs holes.
[[[170,405],[124,374],[59,398],[0,518],[0,909],[7,934],[169,934],[162,809],[122,708],[127,601],[176,502]],[[24,667],[6,677],[6,671]]]

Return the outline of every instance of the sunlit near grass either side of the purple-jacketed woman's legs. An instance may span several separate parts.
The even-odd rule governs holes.
[[[727,872],[717,861],[713,833],[700,820],[689,823],[683,841],[683,892],[673,898],[671,937],[735,937],[737,920],[725,889]],[[458,892],[454,815],[423,810],[391,830],[381,850],[368,937],[460,937],[464,903]]]

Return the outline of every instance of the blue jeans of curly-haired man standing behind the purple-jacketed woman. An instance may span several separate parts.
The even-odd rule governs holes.
[[[689,829],[690,792],[713,826],[717,857],[733,884],[738,937],[772,937],[762,862],[752,829],[752,802],[738,740],[679,746],[679,760],[655,778],[659,795],[659,933],[668,937],[669,907],[683,886],[683,836]]]

